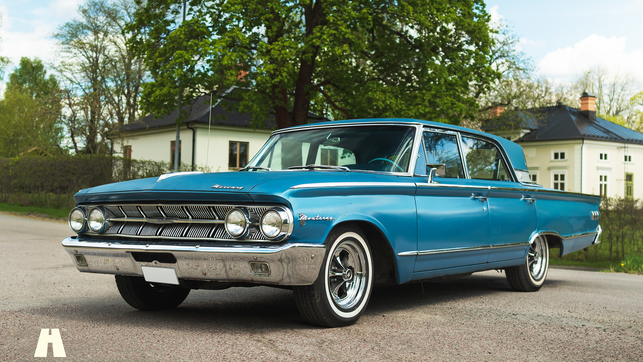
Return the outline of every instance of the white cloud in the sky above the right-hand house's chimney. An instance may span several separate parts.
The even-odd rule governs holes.
[[[629,73],[643,83],[643,50],[625,52],[628,37],[603,37],[592,34],[574,46],[550,52],[538,63],[545,77],[559,81],[574,81],[593,66],[610,71]]]

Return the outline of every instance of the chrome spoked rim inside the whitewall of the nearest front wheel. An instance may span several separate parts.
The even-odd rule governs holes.
[[[334,303],[341,309],[352,309],[361,300],[367,284],[363,249],[345,240],[332,254],[328,268],[328,288]]]

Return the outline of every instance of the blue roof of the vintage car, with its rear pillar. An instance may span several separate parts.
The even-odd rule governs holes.
[[[309,127],[322,127],[322,126],[336,126],[338,124],[358,124],[358,123],[408,123],[408,124],[422,124],[426,126],[431,126],[435,128],[441,128],[441,129],[451,129],[453,131],[460,131],[464,133],[470,133],[473,135],[480,135],[485,138],[491,138],[496,142],[496,144],[499,144],[502,146],[502,148],[505,150],[505,153],[507,153],[507,157],[509,157],[509,160],[511,160],[511,164],[514,167],[514,169],[527,169],[527,162],[525,161],[525,154],[523,153],[523,149],[519,144],[516,144],[515,142],[512,142],[511,140],[507,140],[506,138],[502,138],[496,135],[492,135],[491,133],[485,133],[483,131],[478,131],[476,129],[471,129],[471,128],[465,128],[465,127],[460,127],[460,126],[454,126],[453,124],[447,124],[447,123],[441,123],[441,122],[431,122],[430,120],[422,120],[422,119],[408,119],[408,118],[370,118],[370,119],[347,119],[347,120],[332,120],[330,122],[319,122],[319,123],[314,123],[314,124],[302,124],[301,126],[294,126],[290,128],[284,128],[284,129],[278,129],[278,133],[281,133],[283,131],[287,130],[295,130],[298,128],[309,128]]]

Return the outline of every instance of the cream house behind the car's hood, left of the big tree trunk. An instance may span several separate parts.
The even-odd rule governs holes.
[[[275,124],[269,119],[269,128],[253,128],[248,113],[230,112],[222,106],[226,100],[212,107],[210,97],[195,100],[184,109],[190,117],[181,124],[179,160],[193,167],[209,166],[213,172],[234,171],[245,167],[270,137]],[[116,140],[115,153],[125,158],[165,161],[174,164],[176,142],[176,115],[154,118],[153,115],[125,124],[124,137]],[[209,131],[208,131],[209,126]],[[118,149],[120,147],[120,150]]]

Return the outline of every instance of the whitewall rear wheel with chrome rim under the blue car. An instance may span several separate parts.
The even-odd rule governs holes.
[[[545,236],[538,236],[529,247],[527,260],[518,267],[505,268],[514,291],[536,292],[543,286],[549,270],[549,248]]]

